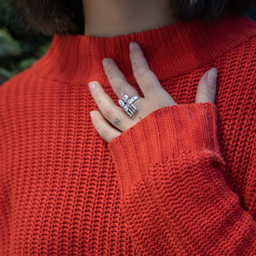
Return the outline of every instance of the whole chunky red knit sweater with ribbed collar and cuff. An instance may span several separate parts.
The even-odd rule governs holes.
[[[114,138],[90,119],[102,67],[129,42],[178,105]],[[179,21],[113,38],[55,35],[0,87],[1,255],[256,255],[256,23]],[[208,69],[215,105],[195,104]],[[119,106],[120,107],[120,106]]]

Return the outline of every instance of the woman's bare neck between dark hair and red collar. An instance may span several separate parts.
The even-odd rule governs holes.
[[[171,25],[170,0],[82,0],[84,35],[114,37]]]

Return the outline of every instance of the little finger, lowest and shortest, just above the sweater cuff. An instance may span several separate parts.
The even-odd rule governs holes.
[[[98,110],[90,112],[92,123],[99,135],[108,143],[122,134],[118,129],[113,128]]]

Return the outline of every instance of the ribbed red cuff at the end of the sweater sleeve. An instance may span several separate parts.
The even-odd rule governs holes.
[[[190,103],[157,109],[108,144],[117,170],[128,180],[134,171],[184,153],[210,150],[220,154],[216,105]]]

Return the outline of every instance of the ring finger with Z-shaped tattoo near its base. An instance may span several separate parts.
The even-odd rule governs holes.
[[[100,112],[111,124],[123,132],[127,130],[127,126],[132,126],[129,115],[113,102],[99,82],[90,82],[88,86]]]

